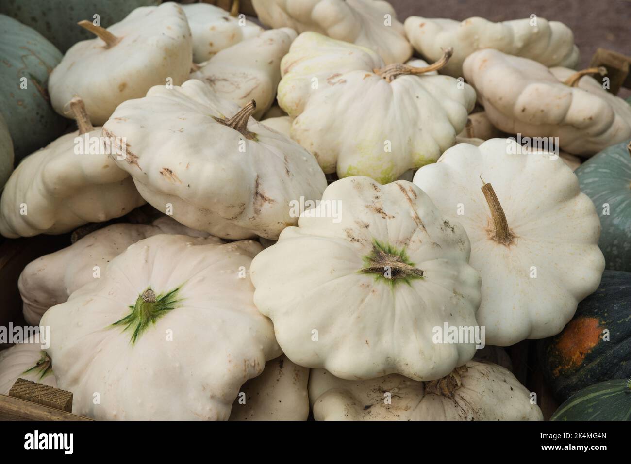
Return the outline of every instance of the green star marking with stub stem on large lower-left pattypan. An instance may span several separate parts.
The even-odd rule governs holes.
[[[123,331],[133,331],[131,335],[131,344],[135,344],[138,337],[149,327],[155,324],[156,320],[167,314],[168,311],[174,310],[180,300],[177,299],[179,287],[165,294],[156,296],[151,288],[146,289],[138,299],[136,304],[129,306],[131,313],[124,318],[117,320],[110,327],[124,325]]]

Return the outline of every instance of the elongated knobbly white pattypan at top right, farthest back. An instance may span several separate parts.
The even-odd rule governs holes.
[[[545,66],[574,67],[579,61],[572,30],[543,18],[493,23],[478,17],[460,22],[410,16],[405,33],[414,49],[432,61],[440,58],[443,49],[453,47],[454,56],[442,71],[456,78],[463,76],[464,59],[481,49],[500,50]]]

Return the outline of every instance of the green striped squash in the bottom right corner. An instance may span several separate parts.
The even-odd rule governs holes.
[[[588,386],[560,405],[550,420],[631,420],[631,380]]]

